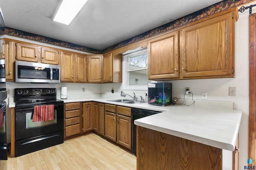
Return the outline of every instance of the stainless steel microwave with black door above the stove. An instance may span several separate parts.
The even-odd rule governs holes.
[[[15,82],[59,83],[60,66],[53,64],[15,61]]]

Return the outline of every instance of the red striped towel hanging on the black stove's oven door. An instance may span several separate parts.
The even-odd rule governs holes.
[[[54,104],[34,106],[34,114],[32,122],[47,121],[54,119]]]

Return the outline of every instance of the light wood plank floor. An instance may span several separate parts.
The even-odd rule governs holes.
[[[60,145],[0,160],[0,170],[136,170],[136,156],[90,133]]]

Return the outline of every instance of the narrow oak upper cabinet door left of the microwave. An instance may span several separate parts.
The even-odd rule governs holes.
[[[15,43],[13,41],[2,41],[3,58],[5,59],[5,76],[6,80],[13,80],[14,72],[14,56],[15,56]]]

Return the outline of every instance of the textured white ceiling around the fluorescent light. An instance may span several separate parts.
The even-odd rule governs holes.
[[[0,0],[0,8],[6,27],[102,50],[220,1],[88,0],[70,25],[52,21],[59,0]]]

